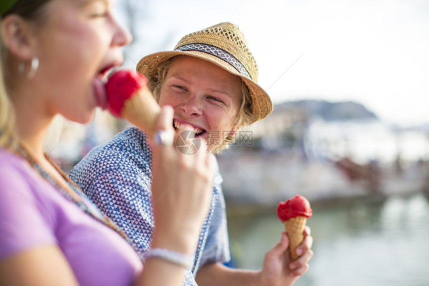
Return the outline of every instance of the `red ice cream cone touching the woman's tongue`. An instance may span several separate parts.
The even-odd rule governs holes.
[[[148,88],[148,80],[131,70],[113,73],[106,85],[107,108],[116,117],[125,118],[149,135],[155,133],[155,122],[161,107]]]

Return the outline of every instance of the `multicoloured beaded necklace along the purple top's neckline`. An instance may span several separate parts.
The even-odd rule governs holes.
[[[82,211],[88,214],[90,217],[98,222],[108,226],[109,228],[116,231],[122,236],[131,246],[135,248],[134,244],[125,234],[125,232],[117,226],[110,218],[102,214],[98,208],[88,199],[88,197],[79,189],[79,187],[51,160],[51,158],[45,153],[45,158],[55,168],[55,170],[61,175],[61,177],[67,182],[69,188],[64,188],[59,181],[49,175],[37,160],[22,146],[18,145],[16,150],[19,155],[24,158],[46,181],[48,181],[55,189],[57,189],[64,197],[75,203]]]

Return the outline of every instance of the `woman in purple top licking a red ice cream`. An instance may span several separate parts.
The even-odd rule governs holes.
[[[123,62],[120,47],[131,35],[112,4],[0,3],[0,285],[182,284],[210,198],[204,148],[185,156],[153,144],[153,196],[163,209],[154,207],[144,267],[124,232],[43,151],[53,117],[91,120],[104,74]],[[172,120],[172,108],[163,108],[160,132],[174,132]],[[180,192],[168,192],[173,183]]]

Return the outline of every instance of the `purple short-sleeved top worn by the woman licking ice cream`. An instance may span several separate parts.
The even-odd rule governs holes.
[[[80,285],[132,285],[143,264],[114,230],[91,218],[22,158],[0,148],[0,261],[57,245]]]

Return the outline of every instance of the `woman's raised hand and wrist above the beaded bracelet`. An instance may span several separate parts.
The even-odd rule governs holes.
[[[181,132],[193,129],[182,126],[176,133],[173,113],[170,106],[162,108],[157,130],[174,132],[176,141]],[[213,188],[211,157],[206,153],[206,142],[198,140],[202,140],[201,145],[192,155],[180,152],[175,142],[172,145],[151,143],[155,217],[152,247],[168,248],[189,255],[196,246]],[[186,143],[192,144],[188,141]]]

